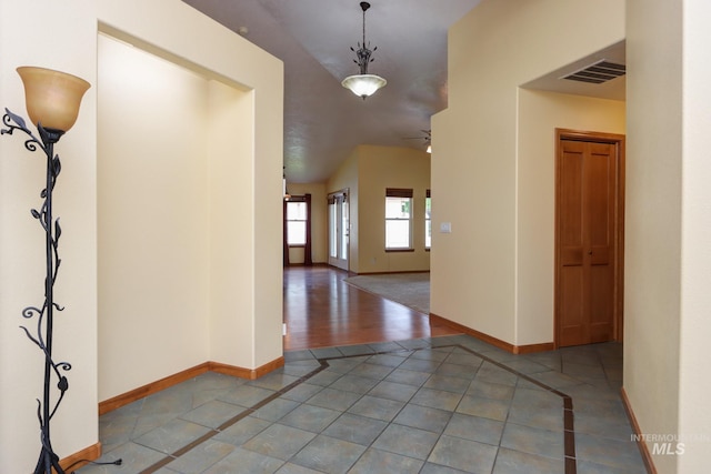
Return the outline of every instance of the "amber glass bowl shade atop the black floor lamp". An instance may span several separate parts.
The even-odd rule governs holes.
[[[21,67],[27,113],[33,124],[67,132],[79,115],[79,104],[91,84],[76,75],[44,68]]]

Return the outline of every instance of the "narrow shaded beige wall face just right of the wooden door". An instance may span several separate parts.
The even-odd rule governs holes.
[[[624,390],[643,433],[678,433],[681,11],[663,1],[628,1],[628,11]],[[654,464],[678,472],[675,456]]]

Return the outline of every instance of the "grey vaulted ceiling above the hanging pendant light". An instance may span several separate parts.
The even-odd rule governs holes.
[[[447,31],[480,0],[371,0],[369,72],[388,85],[367,100],[341,87],[358,73],[360,1],[183,1],[283,61],[286,174],[308,183],[326,181],[359,144],[427,148],[430,117],[447,108]],[[555,73],[531,87],[555,89]]]

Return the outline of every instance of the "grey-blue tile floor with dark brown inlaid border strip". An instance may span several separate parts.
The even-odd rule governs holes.
[[[100,418],[97,473],[644,473],[617,343],[513,355],[458,335],[293,351]]]

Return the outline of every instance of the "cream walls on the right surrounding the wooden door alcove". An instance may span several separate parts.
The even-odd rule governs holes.
[[[450,221],[452,233],[433,235],[432,311],[515,344],[543,342],[551,327],[551,316],[535,313],[550,314],[552,301],[552,162],[539,165],[552,158],[552,129],[627,133],[624,387],[642,433],[685,437],[683,455],[654,456],[664,473],[708,466],[709,14],[700,0],[683,9],[661,0],[484,1],[450,32],[450,108],[433,119],[433,225]],[[603,21],[608,28],[590,30]],[[627,124],[621,103],[598,101],[578,115],[568,109],[587,99],[515,95],[518,84],[624,34]]]

